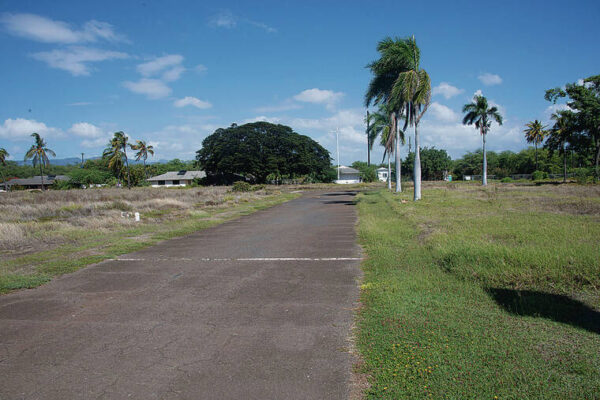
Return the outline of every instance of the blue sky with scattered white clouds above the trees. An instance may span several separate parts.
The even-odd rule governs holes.
[[[339,128],[341,162],[366,160],[365,65],[415,35],[434,87],[422,145],[479,148],[460,111],[481,91],[505,117],[489,148],[519,150],[545,89],[600,73],[599,17],[598,1],[3,0],[0,147],[22,159],[36,131],[57,157],[97,156],[123,130],[193,159],[216,128],[266,120],[333,156]]]

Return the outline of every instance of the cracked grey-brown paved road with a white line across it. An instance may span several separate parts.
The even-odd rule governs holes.
[[[352,195],[309,192],[0,297],[0,399],[347,398]]]

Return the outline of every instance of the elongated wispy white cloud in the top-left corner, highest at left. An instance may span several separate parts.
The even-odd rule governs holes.
[[[45,43],[75,44],[107,40],[111,42],[126,41],[117,34],[112,25],[91,20],[82,29],[72,29],[69,24],[55,21],[36,14],[3,14],[0,23],[5,29],[19,37]]]

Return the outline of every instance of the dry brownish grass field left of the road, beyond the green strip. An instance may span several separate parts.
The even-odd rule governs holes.
[[[275,190],[231,193],[227,187],[187,189],[134,188],[46,192],[10,192],[0,195],[0,253],[19,256],[48,250],[86,237],[157,224],[186,215],[199,215],[237,203],[260,199]],[[122,216],[122,213],[130,213]]]

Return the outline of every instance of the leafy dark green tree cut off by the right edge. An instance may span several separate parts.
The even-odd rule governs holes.
[[[554,103],[563,97],[573,111],[573,144],[592,153],[597,180],[600,176],[600,75],[590,76],[582,84],[568,83],[564,89],[549,89],[545,95],[546,100]]]

